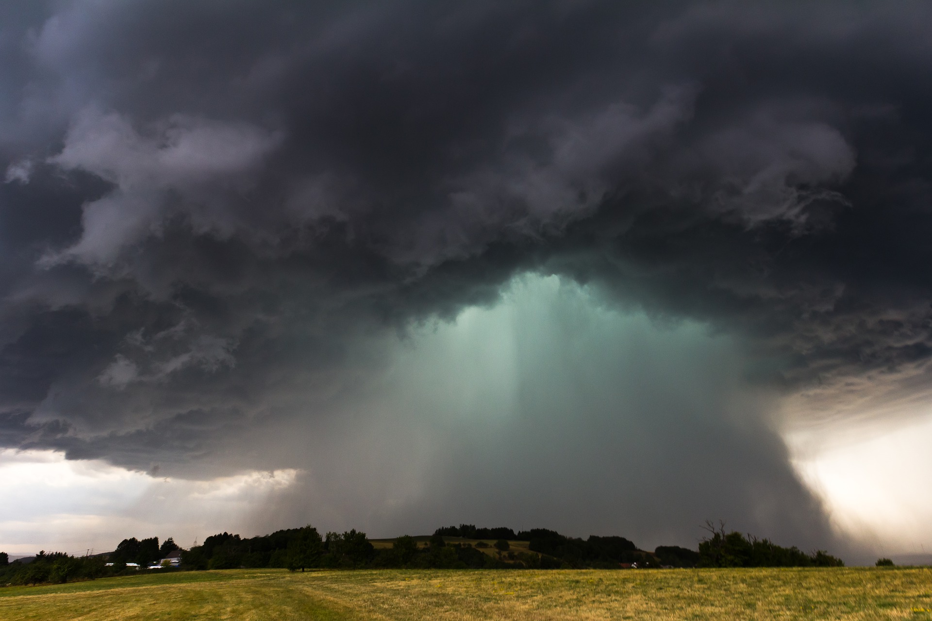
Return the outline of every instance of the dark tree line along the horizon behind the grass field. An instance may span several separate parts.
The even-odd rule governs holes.
[[[282,568],[306,571],[315,568],[411,568],[411,569],[611,569],[623,567],[841,567],[843,562],[825,550],[803,552],[798,547],[777,546],[769,539],[726,532],[724,523],[706,522],[708,536],[699,549],[659,546],[652,552],[639,549],[620,536],[569,537],[547,529],[514,533],[510,528],[476,528],[460,524],[437,529],[430,537],[404,535],[390,547],[374,547],[365,533],[321,534],[313,526],[286,529],[255,537],[217,533],[203,544],[181,551],[181,566],[153,571],[234,568]],[[488,541],[494,540],[489,544]],[[527,547],[509,542],[528,542]],[[177,549],[169,537],[131,537],[113,552],[92,557],[72,557],[62,552],[40,552],[34,560],[8,562],[0,552],[0,585],[62,583],[117,574],[135,573],[127,563],[148,567]]]

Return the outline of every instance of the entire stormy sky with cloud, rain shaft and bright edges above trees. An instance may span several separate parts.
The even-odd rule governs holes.
[[[0,549],[932,553],[921,2],[0,7]]]

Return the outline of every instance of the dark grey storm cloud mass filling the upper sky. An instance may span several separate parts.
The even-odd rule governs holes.
[[[338,425],[385,334],[527,270],[737,335],[758,385],[924,385],[923,4],[2,10],[7,446],[276,466],[230,447]]]

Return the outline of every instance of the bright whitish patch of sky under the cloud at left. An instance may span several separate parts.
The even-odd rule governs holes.
[[[62,452],[0,450],[0,550],[84,554],[126,537],[196,537],[237,526],[237,516],[295,479],[295,470],[208,481],[158,479]]]

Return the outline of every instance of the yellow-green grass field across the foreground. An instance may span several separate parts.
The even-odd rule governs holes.
[[[0,588],[0,619],[932,619],[929,569],[227,570]]]

